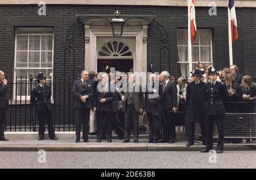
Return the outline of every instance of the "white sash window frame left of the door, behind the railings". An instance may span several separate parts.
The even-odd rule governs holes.
[[[17,100],[17,101],[20,101],[20,100],[22,100],[22,101],[24,101],[24,100],[27,100],[27,101],[30,101],[30,95],[28,95],[28,92],[30,91],[30,85],[29,85],[29,83],[30,83],[30,74],[27,74],[28,76],[27,76],[27,79],[24,77],[22,77],[22,79],[20,79],[20,77],[17,77],[17,79],[16,79],[16,69],[27,69],[27,70],[29,70],[29,69],[38,69],[38,70],[40,70],[40,69],[52,69],[52,73],[51,73],[51,84],[53,85],[53,57],[54,57],[54,33],[27,33],[27,34],[17,34],[17,31],[18,30],[27,30],[27,31],[33,31],[33,30],[38,30],[39,28],[16,28],[16,30],[15,30],[15,51],[14,51],[14,76],[13,76],[13,98],[12,98],[12,100],[13,101],[15,101],[15,100]],[[40,28],[40,30],[49,30],[49,28]],[[51,28],[52,29],[52,31],[53,31],[53,28]],[[24,35],[24,36],[28,36],[28,43],[27,43],[27,45],[28,45],[28,49],[27,49],[27,51],[17,51],[17,36],[18,35]],[[29,50],[29,40],[30,40],[30,35],[40,35],[40,50],[39,51],[30,51]],[[52,35],[52,51],[42,51],[42,35]],[[27,52],[27,67],[26,68],[17,68],[16,67],[16,54],[17,54],[17,52]],[[39,61],[39,66],[41,66],[41,55],[42,55],[42,52],[52,52],[52,66],[51,66],[51,68],[41,68],[41,67],[39,67],[39,68],[28,68],[28,62],[29,62],[29,52],[40,52],[40,61]],[[39,73],[39,72],[38,72]],[[48,75],[48,74],[47,74]],[[35,77],[33,77],[33,78],[35,78]],[[24,81],[24,80],[26,80],[27,81],[27,95],[21,95],[20,96],[20,94],[18,94],[17,95],[17,97],[16,97],[16,85],[15,85],[15,83],[16,83],[16,80],[17,81]],[[33,81],[34,80],[36,80],[36,79],[33,79]],[[50,78],[47,76],[47,79],[46,79],[48,82],[50,81]],[[17,82],[17,85],[18,85],[19,83]],[[32,85],[32,88],[34,87],[34,85]],[[51,95],[51,99],[53,99],[53,86],[51,86],[51,91],[52,91],[52,95]],[[21,97],[21,99],[20,99],[20,97]]]

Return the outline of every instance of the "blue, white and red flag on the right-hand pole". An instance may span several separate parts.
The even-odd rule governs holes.
[[[232,34],[232,44],[234,41],[238,38],[238,32],[237,32],[237,16],[236,16],[236,9],[234,6],[234,0],[229,0],[228,3],[228,10],[230,14],[230,21],[231,23],[231,34]]]

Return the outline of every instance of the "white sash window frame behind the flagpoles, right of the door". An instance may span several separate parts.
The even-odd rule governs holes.
[[[187,29],[177,29],[177,31],[187,31]],[[200,41],[200,31],[209,31],[210,32],[210,61],[201,61],[201,47],[209,47],[209,45],[201,45],[201,41]],[[199,33],[198,33],[199,32]],[[209,30],[209,29],[197,29],[197,36],[199,36],[199,45],[193,45],[192,44],[192,47],[199,47],[199,61],[197,62],[201,62],[201,64],[207,64],[207,63],[210,63],[210,64],[213,64],[213,55],[212,55],[212,30]],[[188,47],[188,45],[177,45],[177,47]],[[185,56],[186,58],[188,58],[188,56]],[[187,74],[190,74],[189,72],[189,66],[190,65],[193,65],[193,64],[196,64],[197,62],[193,62],[192,59],[191,61],[182,61],[180,62],[179,60],[177,60],[177,63],[179,64],[188,64],[188,72]],[[191,69],[193,69],[193,67],[191,67]]]

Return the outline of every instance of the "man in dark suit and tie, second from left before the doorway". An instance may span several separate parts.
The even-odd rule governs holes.
[[[106,73],[101,74],[102,81],[97,85],[93,110],[97,111],[97,142],[101,142],[104,127],[108,135],[108,143],[112,142],[113,101],[115,101],[115,87],[109,82]]]

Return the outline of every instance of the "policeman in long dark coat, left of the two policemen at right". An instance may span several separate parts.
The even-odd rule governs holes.
[[[206,83],[200,81],[201,70],[193,70],[193,81],[187,86],[188,104],[188,143],[187,146],[194,145],[195,123],[200,123],[203,145],[205,145],[205,93]]]

